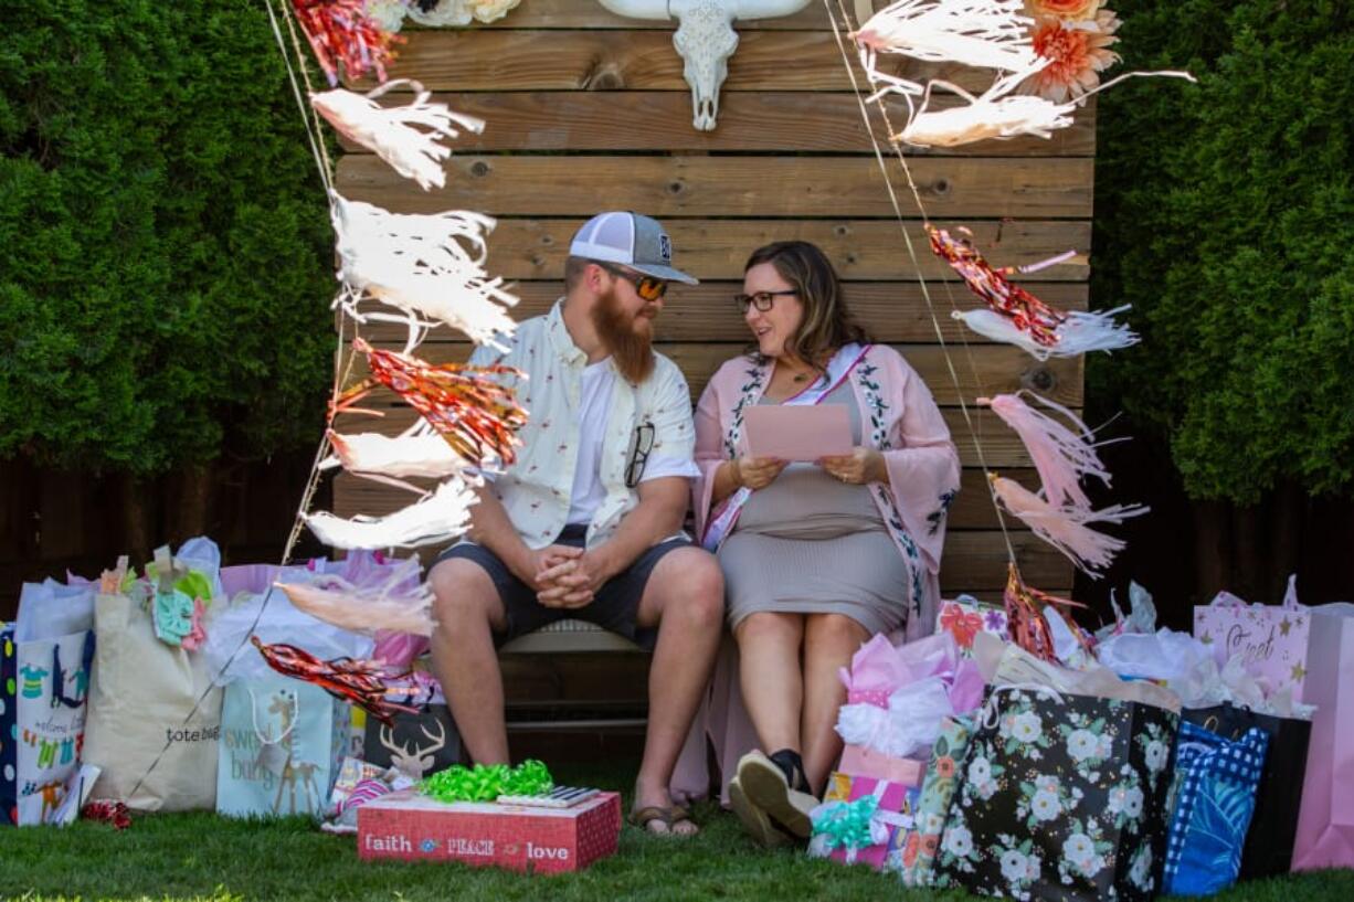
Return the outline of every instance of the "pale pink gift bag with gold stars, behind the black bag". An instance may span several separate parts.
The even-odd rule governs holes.
[[[1282,605],[1247,605],[1221,592],[1212,604],[1194,608],[1194,635],[1213,650],[1219,666],[1239,654],[1250,673],[1263,677],[1269,695],[1292,689],[1294,700],[1308,703],[1303,685],[1309,628],[1309,609],[1297,603],[1293,580]]]

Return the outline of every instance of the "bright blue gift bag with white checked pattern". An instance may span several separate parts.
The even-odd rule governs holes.
[[[1175,739],[1162,891],[1212,895],[1236,882],[1269,737],[1227,739],[1189,722]]]

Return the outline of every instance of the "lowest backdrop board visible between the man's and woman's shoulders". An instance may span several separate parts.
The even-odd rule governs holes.
[[[417,355],[429,363],[464,363],[474,345],[463,341],[425,341]],[[670,358],[685,374],[692,398],[700,397],[705,383],[724,360],[742,352],[741,344],[691,341],[657,344],[655,348]],[[399,349],[399,348],[394,348]],[[969,353],[961,348],[951,351],[951,362],[959,377],[956,389],[946,352],[936,344],[903,344],[896,349],[930,387],[940,405],[972,404],[980,394],[999,394],[1020,389],[1039,387],[1040,394],[1068,406],[1082,404],[1082,358],[1052,358],[1039,362],[1020,348],[1006,344],[975,347]],[[366,358],[353,363],[353,379],[366,378]]]

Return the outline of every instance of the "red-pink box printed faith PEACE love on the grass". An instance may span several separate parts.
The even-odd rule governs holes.
[[[616,852],[620,795],[601,792],[569,809],[437,802],[403,790],[357,809],[357,856],[464,861],[555,874]]]

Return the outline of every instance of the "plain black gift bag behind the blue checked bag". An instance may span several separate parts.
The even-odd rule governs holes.
[[[1235,704],[1186,710],[1181,718],[1227,739],[1240,739],[1251,729],[1263,730],[1269,737],[1255,795],[1255,815],[1242,852],[1240,879],[1288,874],[1293,864],[1293,837],[1297,834],[1301,803],[1301,795],[1293,787],[1303,781],[1307,772],[1311,722],[1257,714]]]

